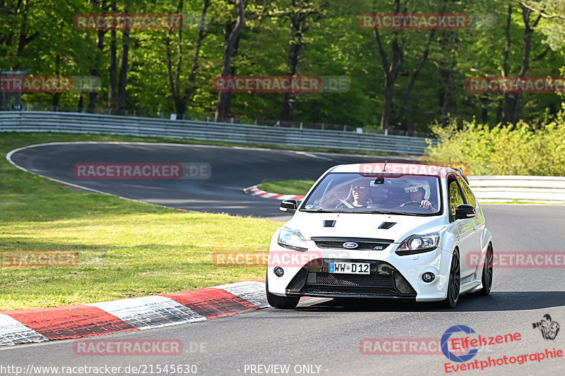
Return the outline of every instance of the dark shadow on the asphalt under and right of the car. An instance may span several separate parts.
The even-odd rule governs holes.
[[[453,312],[537,310],[565,305],[565,291],[501,291],[489,296],[462,295]],[[446,310],[438,303],[416,303],[396,299],[335,298],[295,308],[304,312],[434,312]]]

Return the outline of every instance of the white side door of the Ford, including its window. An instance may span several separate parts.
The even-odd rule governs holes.
[[[461,264],[461,281],[475,272],[476,265],[470,262],[470,253],[475,250],[476,236],[473,226],[475,218],[455,219],[456,207],[465,203],[463,192],[454,175],[447,177],[448,209],[451,231],[459,241],[459,256]]]

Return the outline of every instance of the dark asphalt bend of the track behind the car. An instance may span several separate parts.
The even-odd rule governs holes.
[[[350,154],[136,142],[42,145],[15,152],[11,159],[16,165],[35,174],[134,200],[185,210],[226,212],[278,221],[290,218],[278,210],[280,201],[254,198],[246,195],[243,188],[261,183],[263,179],[316,179],[336,164],[383,161],[382,157]],[[388,160],[400,162],[415,159],[391,157]],[[73,165],[83,162],[208,163],[211,175],[207,179],[178,180],[75,178]]]

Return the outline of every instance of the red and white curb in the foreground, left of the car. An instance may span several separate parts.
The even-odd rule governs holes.
[[[0,346],[198,322],[268,307],[263,281],[92,304],[0,312]]]

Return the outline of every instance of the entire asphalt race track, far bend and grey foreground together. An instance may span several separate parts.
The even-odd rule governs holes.
[[[98,157],[105,157],[103,160],[108,162],[115,162],[120,152],[127,154],[121,146],[98,145],[90,150],[99,147]],[[131,148],[126,147],[126,150],[131,152]],[[171,162],[169,158],[177,155],[174,153],[178,150],[172,149],[174,147],[141,147],[144,152],[155,152],[155,155],[165,153],[162,160],[166,162]],[[73,151],[78,154],[69,154]],[[150,181],[134,182],[133,186],[131,182],[98,181],[94,182],[95,187],[98,189],[107,185],[105,190],[111,193],[127,197],[135,195],[131,198],[138,199],[150,198],[152,202],[157,202],[155,200],[160,200],[166,194],[169,200],[160,203],[186,205],[184,208],[192,210],[202,207],[198,200],[205,198],[209,200],[206,205],[213,206],[211,211],[222,211],[222,202],[227,200],[223,204],[226,210],[223,211],[283,219],[277,213],[278,200],[246,196],[241,189],[262,178],[273,179],[273,176],[280,179],[314,179],[326,166],[355,162],[357,159],[352,156],[331,156],[331,160],[326,160],[295,152],[208,147],[187,147],[184,152],[183,158],[212,164],[213,176],[216,176],[214,181],[184,181],[188,182],[186,187],[172,185],[158,188],[152,188]],[[206,152],[209,152],[207,157]],[[213,158],[210,157],[212,154]],[[76,159],[76,155],[80,158]],[[30,171],[71,179],[69,166],[73,163],[97,161],[89,155],[85,147],[49,146],[18,152],[13,155],[13,160]],[[328,157],[326,154],[312,155]],[[88,158],[88,161],[81,160],[83,158]],[[225,168],[222,167],[224,163],[227,164]],[[483,205],[483,210],[487,226],[492,231],[495,252],[564,250],[564,206]],[[321,375],[445,374],[444,363],[447,363],[447,359],[441,354],[363,355],[359,352],[359,341],[364,338],[439,339],[448,327],[467,325],[483,336],[521,333],[521,341],[481,348],[473,360],[518,356],[544,351],[545,348],[565,350],[565,333],[561,331],[556,339],[545,340],[540,331],[532,327],[532,323],[540,321],[546,313],[561,325],[565,323],[564,281],[563,269],[559,268],[495,269],[491,296],[462,296],[455,310],[441,310],[433,304],[396,301],[317,299],[308,304],[301,303],[295,310],[267,308],[189,325],[97,337],[180,339],[185,348],[181,356],[76,356],[73,353],[73,340],[67,340],[0,348],[0,363],[24,368],[28,364],[122,367],[196,364],[198,375],[259,375],[258,372],[250,372],[251,365],[275,364],[290,365],[290,375],[316,374],[317,365],[320,366]],[[203,344],[203,351],[191,352],[191,344]],[[295,365],[314,365],[314,372],[295,372]],[[528,360],[523,365],[497,365],[482,372],[457,373],[558,375],[564,368],[564,358],[557,358],[540,363]],[[122,371],[120,375],[128,374]]]

